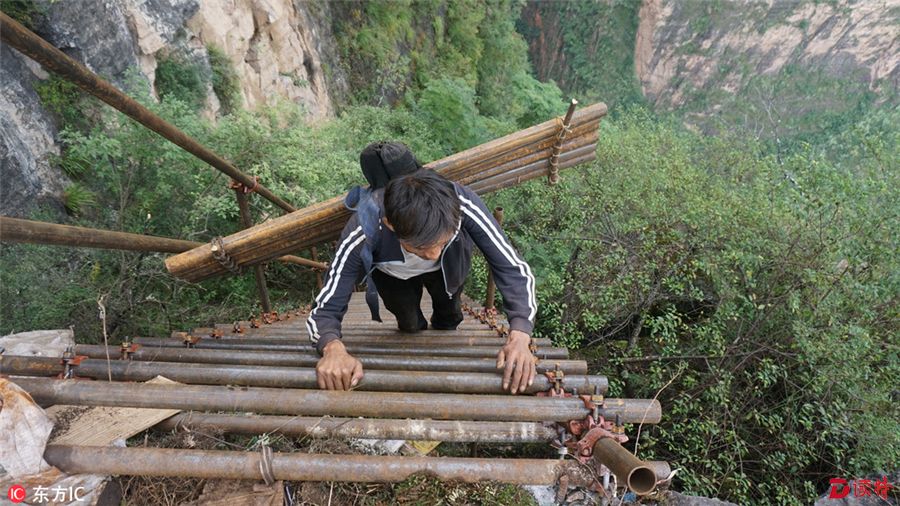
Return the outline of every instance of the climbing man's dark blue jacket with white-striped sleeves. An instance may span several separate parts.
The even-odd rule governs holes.
[[[510,329],[531,334],[537,314],[531,268],[510,245],[481,198],[466,186],[457,183],[454,186],[460,200],[462,223],[459,232],[441,255],[447,296],[452,297],[451,294],[465,283],[472,266],[474,243],[484,253],[497,287],[503,294],[503,309]],[[369,274],[377,263],[403,261],[397,236],[381,223],[384,216],[383,192],[375,190],[371,199],[361,198],[359,190],[348,196],[348,207],[356,212],[341,233],[325,285],[306,320],[309,339],[320,354],[326,344],[341,338],[341,320],[347,312],[354,287],[363,278],[368,278],[366,301],[372,310],[372,318],[380,321],[377,293]]]

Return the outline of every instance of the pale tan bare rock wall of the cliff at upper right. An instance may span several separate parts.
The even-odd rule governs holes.
[[[900,85],[897,0],[645,0],[639,18],[635,71],[647,99],[665,109],[697,90],[740,93],[789,67],[876,93]]]

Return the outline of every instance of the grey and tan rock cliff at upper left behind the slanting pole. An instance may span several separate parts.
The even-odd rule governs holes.
[[[35,31],[119,87],[130,73],[155,82],[161,58],[177,54],[210,69],[207,46],[221,48],[240,79],[243,106],[288,100],[311,120],[333,115],[326,75],[336,61],[330,10],[304,0],[38,0]],[[57,125],[34,91],[48,75],[15,50],[2,48],[0,72],[0,213],[27,215],[34,204],[58,200],[67,180],[53,167]],[[333,65],[339,69],[338,65]],[[155,95],[155,90],[151,90]],[[219,101],[207,90],[206,112]],[[60,208],[60,206],[56,206]]]

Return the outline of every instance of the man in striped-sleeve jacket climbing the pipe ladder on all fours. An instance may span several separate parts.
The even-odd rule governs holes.
[[[529,344],[537,314],[528,263],[472,190],[422,169],[405,145],[371,144],[360,155],[360,165],[369,188],[355,188],[347,197],[356,212],[344,227],[307,319],[309,338],[322,355],[316,366],[319,387],[348,390],[363,378],[362,363],[341,342],[341,321],[360,279],[367,281],[372,319],[381,321],[380,296],[401,332],[426,329],[424,287],[432,300],[431,327],[455,330],[463,319],[460,296],[475,244],[503,294],[510,324],[507,342],[497,354],[503,388],[524,391],[535,375]]]

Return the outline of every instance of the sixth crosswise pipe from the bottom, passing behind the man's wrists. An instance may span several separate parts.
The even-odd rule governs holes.
[[[181,339],[167,339],[159,337],[135,337],[135,343],[142,344],[147,347],[163,347],[163,348],[180,348],[185,347],[185,341]],[[312,344],[300,342],[297,344],[290,343],[270,343],[270,344],[254,344],[243,343],[237,339],[216,340],[201,339],[192,345],[195,348],[211,349],[211,350],[260,350],[260,351],[293,351],[302,353],[315,354],[316,350]],[[412,346],[406,344],[391,345],[369,345],[359,343],[347,343],[347,351],[356,354],[369,355],[427,355],[434,357],[495,357],[500,351],[500,346]],[[539,359],[564,359],[569,357],[569,350],[565,348],[538,348],[535,353]]]

